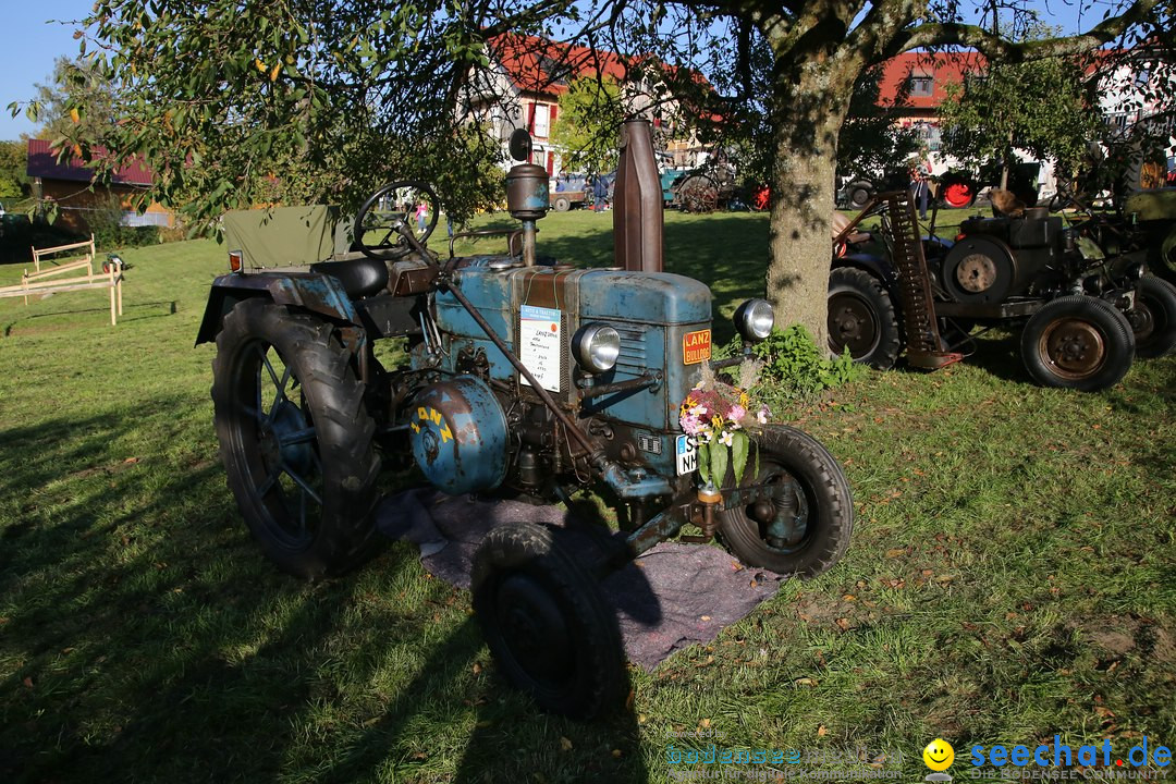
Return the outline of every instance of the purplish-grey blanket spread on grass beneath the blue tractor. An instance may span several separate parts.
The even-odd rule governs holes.
[[[512,521],[563,524],[566,512],[557,507],[470,501],[430,490],[389,496],[376,510],[376,525],[385,536],[417,544],[428,571],[467,589],[482,537]],[[602,583],[616,609],[624,651],[646,670],[680,648],[710,642],[779,588],[779,575],[744,569],[724,550],[675,542],[657,544]]]

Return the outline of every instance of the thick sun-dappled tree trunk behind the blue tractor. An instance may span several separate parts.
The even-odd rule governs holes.
[[[828,344],[837,138],[855,75],[809,65],[801,73],[777,75],[773,96],[782,108],[773,115],[776,160],[767,296],[779,327],[801,323],[818,347]]]

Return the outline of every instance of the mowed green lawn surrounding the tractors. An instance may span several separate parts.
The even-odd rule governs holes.
[[[607,263],[610,219],[552,215],[541,253]],[[762,215],[667,213],[667,269],[727,319],[767,237]],[[844,559],[576,724],[503,685],[469,595],[410,545],[314,585],[261,557],[218,461],[214,349],[192,346],[223,248],[122,255],[115,328],[105,293],[0,300],[2,780],[666,780],[695,729],[866,746],[904,780],[937,736],[956,776],[973,744],[1176,743],[1176,359],[1041,389],[1005,334],[784,413],[846,467]]]

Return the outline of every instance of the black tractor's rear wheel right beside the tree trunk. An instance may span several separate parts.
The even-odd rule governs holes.
[[[854,362],[878,370],[894,367],[902,350],[898,316],[882,282],[866,270],[838,267],[829,273],[829,350],[846,347]]]

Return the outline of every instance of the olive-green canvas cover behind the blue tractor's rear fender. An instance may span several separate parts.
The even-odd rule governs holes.
[[[241,250],[246,267],[298,267],[347,253],[350,221],[339,207],[307,205],[225,213],[225,243]]]

